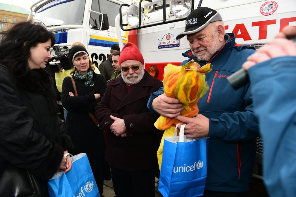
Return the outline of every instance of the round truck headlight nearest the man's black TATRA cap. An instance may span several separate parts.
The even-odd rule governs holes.
[[[169,8],[175,17],[187,17],[191,11],[191,0],[171,0]]]

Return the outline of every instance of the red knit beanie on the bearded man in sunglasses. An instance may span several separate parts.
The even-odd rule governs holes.
[[[129,42],[126,45],[124,45],[120,52],[119,65],[127,60],[137,60],[144,64],[144,58],[142,56],[142,53],[139,51],[135,44]]]

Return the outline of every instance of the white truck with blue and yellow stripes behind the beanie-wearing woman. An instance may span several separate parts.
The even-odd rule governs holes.
[[[70,47],[74,42],[85,45],[93,63],[98,66],[110,54],[111,46],[120,40],[127,43],[124,31],[116,34],[114,20],[119,13],[117,0],[40,0],[31,6],[31,18],[43,22],[55,32],[56,43]]]

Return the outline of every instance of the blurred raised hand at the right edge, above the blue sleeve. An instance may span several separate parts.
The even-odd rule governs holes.
[[[248,70],[251,66],[271,58],[296,56],[295,43],[287,39],[293,36],[296,36],[296,27],[285,27],[282,32],[276,35],[275,39],[269,41],[258,51],[250,55],[242,67]]]

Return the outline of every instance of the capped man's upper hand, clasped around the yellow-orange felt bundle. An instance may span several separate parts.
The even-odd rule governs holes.
[[[153,99],[152,106],[157,113],[168,118],[175,118],[183,110],[178,99],[167,97],[165,94]]]

